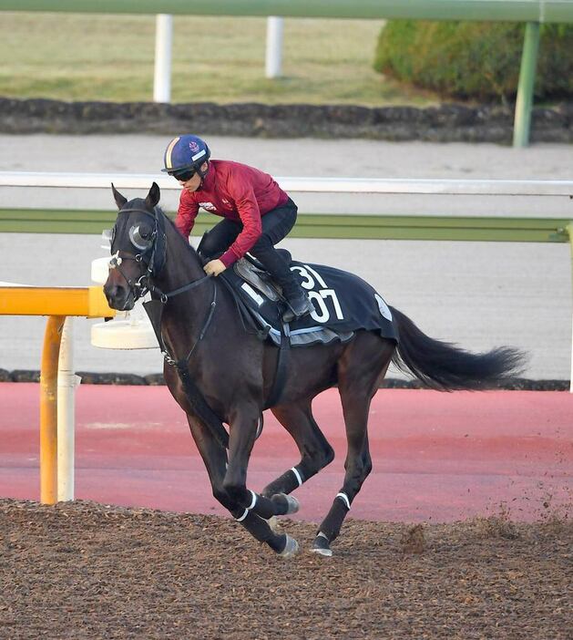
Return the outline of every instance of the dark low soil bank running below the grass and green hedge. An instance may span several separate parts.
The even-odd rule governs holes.
[[[513,106],[62,102],[0,98],[2,133],[156,133],[250,138],[365,138],[511,144]],[[573,103],[534,108],[532,142],[573,142]]]

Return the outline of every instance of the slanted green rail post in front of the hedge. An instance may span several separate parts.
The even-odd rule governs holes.
[[[533,88],[539,49],[539,23],[528,22],[523,41],[519,84],[517,85],[516,114],[513,128],[513,146],[527,147],[531,129],[531,108],[533,106]]]

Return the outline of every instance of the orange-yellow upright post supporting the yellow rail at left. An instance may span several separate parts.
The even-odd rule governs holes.
[[[47,319],[40,371],[40,501],[57,501],[57,358],[65,315]]]

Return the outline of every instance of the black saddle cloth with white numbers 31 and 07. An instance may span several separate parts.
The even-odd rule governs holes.
[[[280,287],[270,284],[266,272],[243,258],[220,277],[235,292],[241,313],[254,320],[277,345],[281,344],[281,331],[285,329],[292,346],[326,344],[334,340],[346,342],[360,329],[377,331],[398,342],[391,310],[382,296],[362,278],[323,264],[291,262],[291,270],[299,276],[314,311],[286,327],[282,323],[286,305],[277,293]],[[251,277],[252,272],[254,277]]]

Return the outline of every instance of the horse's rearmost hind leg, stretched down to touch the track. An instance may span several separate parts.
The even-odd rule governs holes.
[[[314,539],[313,552],[332,555],[330,543],[338,537],[353,499],[372,470],[368,448],[368,412],[378,380],[384,375],[393,353],[394,343],[364,333],[357,336],[339,361],[338,387],[348,443],[344,461],[346,473],[343,486]]]

